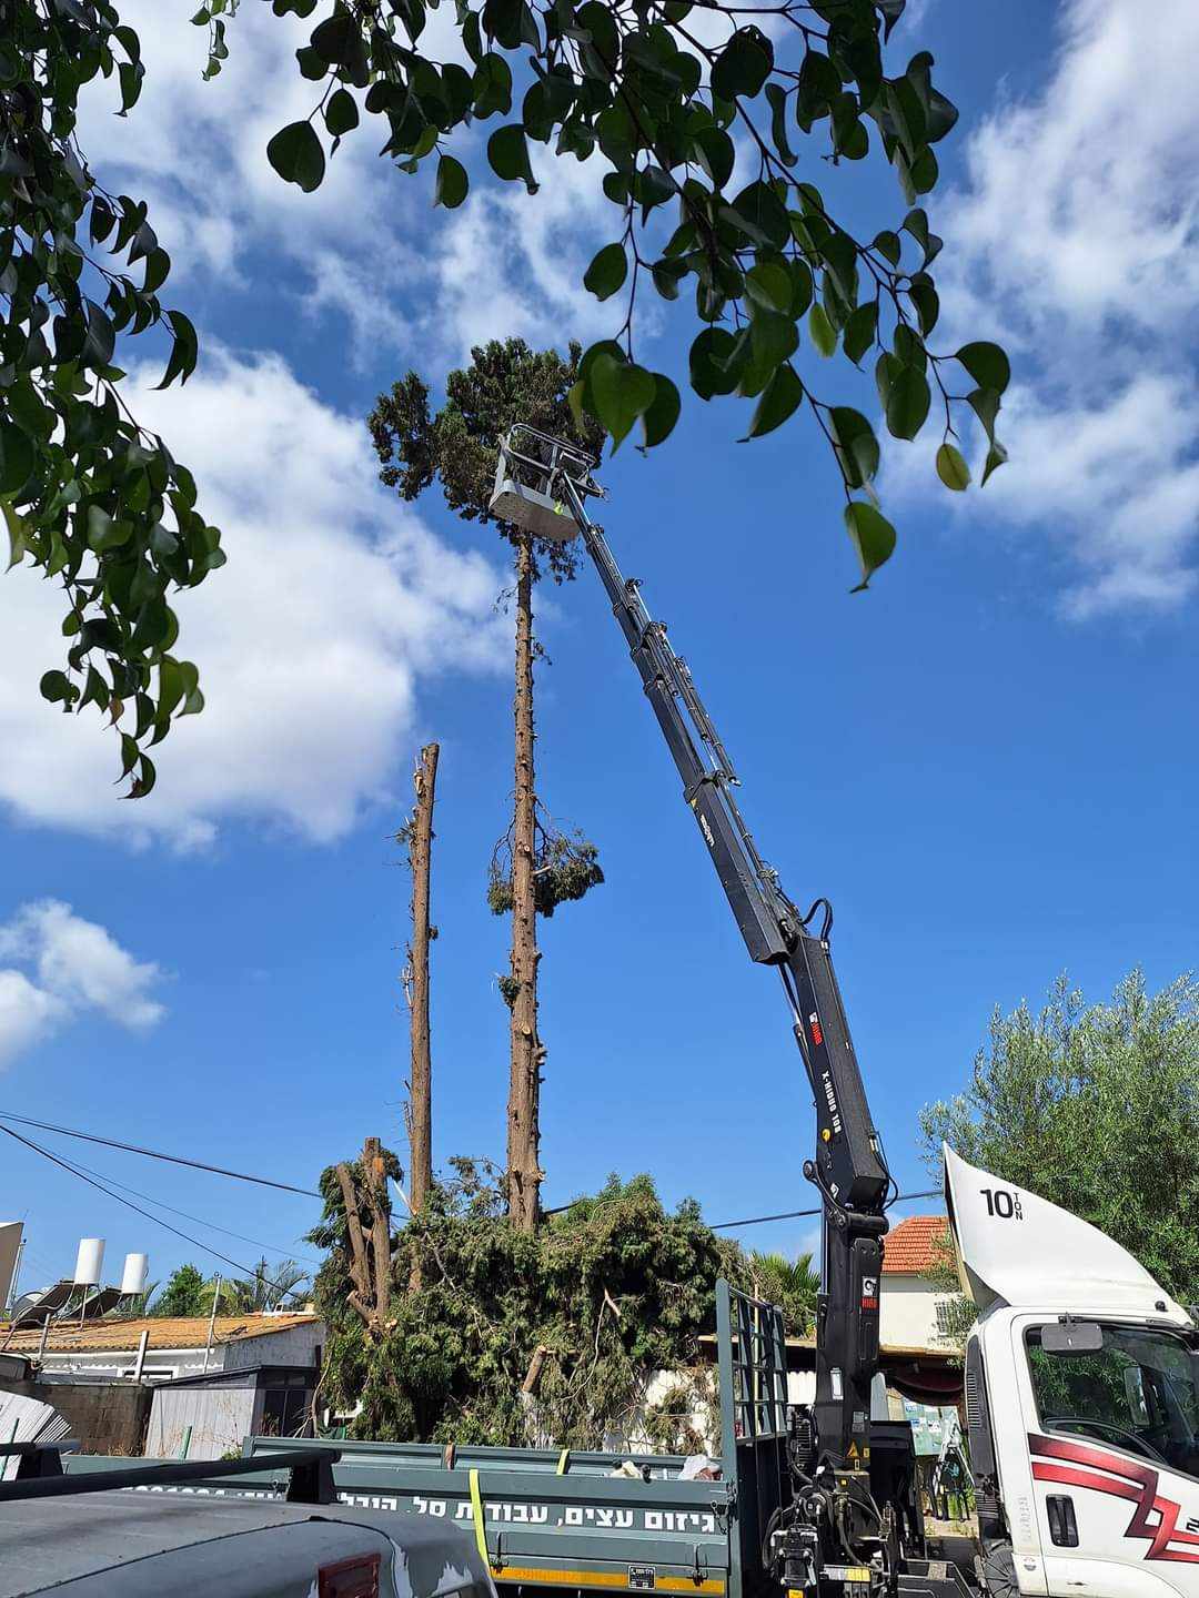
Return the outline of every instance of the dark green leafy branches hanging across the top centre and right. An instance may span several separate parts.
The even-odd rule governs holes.
[[[529,192],[531,141],[558,157],[595,157],[588,169],[612,205],[615,237],[584,281],[601,300],[620,296],[623,316],[614,316],[615,337],[582,355],[571,406],[612,447],[636,422],[643,444],[659,444],[679,415],[673,379],[635,355],[638,296],[652,288],[665,300],[686,291],[700,324],[691,387],[703,400],[753,401],[747,439],[807,409],[841,471],[860,586],[890,556],[895,529],[873,489],[874,428],[862,411],[819,396],[822,358],[839,350],[857,368],[873,364],[892,436],[913,439],[935,417],[946,487],[970,479],[962,417],[988,436],[983,481],[1004,462],[996,417],[1007,356],[990,342],[930,344],[942,240],[921,201],[958,112],[934,85],[927,51],[889,70],[884,46],[905,0],[782,0],[758,21],[723,0],[454,0],[467,66],[427,53],[425,0],[272,5],[313,19],[296,53],[313,109],[267,147],[278,174],[304,190],[318,187],[328,157],[358,128],[360,102],[382,134],[380,153],[406,173],[435,166],[435,203],[449,208],[470,187],[451,145],[465,152],[473,123],[494,121],[488,163]],[[221,50],[224,10],[209,0],[195,18]],[[812,158],[860,161],[871,145],[894,166],[905,208],[894,227],[866,237],[833,214]]]

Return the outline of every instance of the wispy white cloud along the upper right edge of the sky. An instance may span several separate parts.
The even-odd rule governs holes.
[[[1196,590],[1197,53],[1194,0],[1070,0],[1044,91],[972,134],[935,214],[948,348],[999,337],[1018,377],[1012,460],[954,508],[1047,535],[1073,617]],[[926,455],[892,455],[889,484],[932,484]]]

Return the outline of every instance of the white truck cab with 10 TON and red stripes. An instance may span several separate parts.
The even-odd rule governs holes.
[[[1199,1338],[1109,1237],[945,1149],[988,1587],[1199,1598]]]

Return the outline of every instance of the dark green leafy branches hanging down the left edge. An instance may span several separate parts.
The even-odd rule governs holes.
[[[144,201],[109,193],[78,147],[96,77],[120,115],[137,101],[141,46],[114,5],[0,0],[0,511],[10,564],[62,588],[66,670],[42,694],[109,714],[139,797],[155,781],[145,751],[203,706],[168,596],[225,556],[190,471],[121,400],[121,334],[166,334],[160,387],[185,382],[197,339],[160,299],[171,262]]]

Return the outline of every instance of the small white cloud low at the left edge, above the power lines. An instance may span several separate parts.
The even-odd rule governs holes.
[[[160,968],[136,960],[61,900],[22,904],[0,925],[0,959],[16,962],[0,968],[0,1066],[85,1012],[131,1031],[145,1031],[166,1013],[153,997]]]

